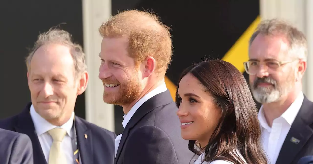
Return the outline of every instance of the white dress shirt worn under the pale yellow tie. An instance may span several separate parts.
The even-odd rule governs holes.
[[[38,139],[44,152],[44,157],[48,163],[49,161],[49,153],[50,148],[53,142],[52,137],[48,134],[48,131],[51,129],[56,128],[57,126],[52,125],[43,117],[41,117],[34,109],[33,105],[30,107],[30,116],[32,117],[34,127],[36,129]],[[65,158],[67,163],[72,164],[74,163],[74,152],[73,152],[73,145],[72,145],[72,137],[74,137],[74,128],[73,127],[74,121],[74,112],[72,113],[71,118],[69,121],[65,122],[60,128],[66,130],[66,135],[61,143],[61,148],[65,154]]]

